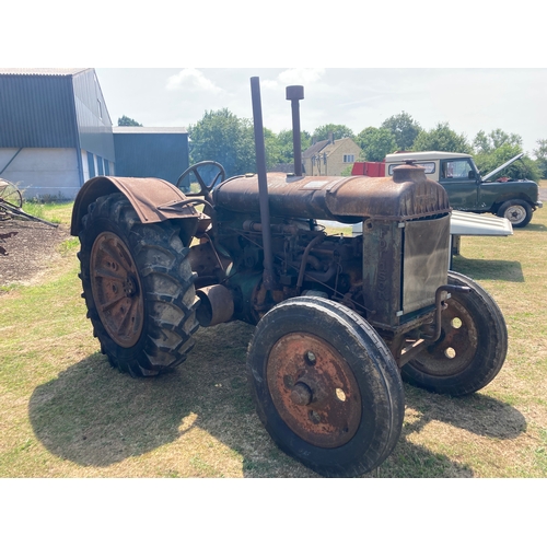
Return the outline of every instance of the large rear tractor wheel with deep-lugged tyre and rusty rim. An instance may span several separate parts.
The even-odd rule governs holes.
[[[182,363],[199,300],[176,224],[142,224],[125,196],[110,194],[90,205],[82,225],[82,296],[110,364],[152,376]]]

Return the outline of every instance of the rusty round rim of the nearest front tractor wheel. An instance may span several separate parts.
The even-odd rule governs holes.
[[[307,333],[291,333],[272,347],[267,382],[274,405],[287,426],[315,446],[349,442],[361,422],[357,380],[340,353]]]

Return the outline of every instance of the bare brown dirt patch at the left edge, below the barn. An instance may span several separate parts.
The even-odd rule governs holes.
[[[38,282],[48,264],[60,259],[59,245],[70,237],[68,225],[14,219],[0,222],[0,234],[9,233],[0,242],[7,252],[0,254],[0,287]]]

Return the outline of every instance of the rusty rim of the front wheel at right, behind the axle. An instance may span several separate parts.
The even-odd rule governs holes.
[[[422,351],[412,364],[434,376],[463,372],[478,350],[477,326],[472,314],[454,298],[441,316],[440,339]]]

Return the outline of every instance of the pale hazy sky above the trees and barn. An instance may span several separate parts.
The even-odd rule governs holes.
[[[473,141],[478,131],[517,133],[533,156],[547,139],[545,68],[100,68],[113,125],[123,115],[148,127],[188,127],[206,110],[253,118],[258,77],[264,126],[291,128],[288,85],[303,85],[301,127],[348,126],[357,135],[406,112],[423,129],[449,123]]]

